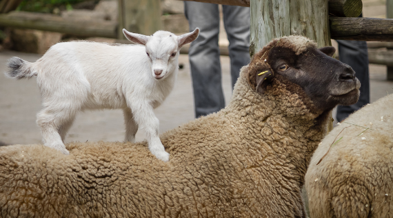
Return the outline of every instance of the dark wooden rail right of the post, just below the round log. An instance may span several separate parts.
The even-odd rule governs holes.
[[[330,17],[332,39],[393,41],[393,19]]]

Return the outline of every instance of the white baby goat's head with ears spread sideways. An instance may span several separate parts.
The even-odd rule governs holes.
[[[152,61],[152,76],[155,79],[163,79],[168,76],[168,72],[178,68],[177,60],[181,47],[198,37],[199,28],[180,36],[161,30],[154,32],[150,37],[128,32],[125,29],[123,33],[128,40],[145,46],[145,55]]]

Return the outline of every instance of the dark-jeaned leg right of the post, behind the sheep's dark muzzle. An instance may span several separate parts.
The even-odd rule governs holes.
[[[356,78],[361,82],[359,101],[351,106],[337,107],[337,121],[341,122],[352,112],[370,103],[370,79],[368,70],[367,43],[365,41],[337,40],[339,43],[340,61],[351,66],[356,72]]]

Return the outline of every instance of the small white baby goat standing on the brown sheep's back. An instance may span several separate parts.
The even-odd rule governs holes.
[[[37,76],[43,109],[37,114],[45,146],[68,155],[64,140],[78,111],[122,109],[125,141],[134,142],[145,130],[148,147],[162,161],[168,152],[159,139],[157,108],[172,91],[179,71],[179,50],[198,37],[199,28],[177,37],[157,31],[148,37],[123,29],[138,45],[110,45],[90,41],[57,43],[38,61],[19,57],[8,62],[8,77]]]

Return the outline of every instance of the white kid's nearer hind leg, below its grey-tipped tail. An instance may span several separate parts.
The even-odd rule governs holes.
[[[43,108],[37,114],[37,125],[41,128],[43,143],[49,148],[54,148],[65,155],[69,155],[70,152],[64,146],[63,138],[66,137],[67,128],[70,128],[74,115],[70,116],[71,114],[68,111],[53,111],[56,110],[53,110],[53,108]],[[66,127],[66,129],[62,129],[60,135],[59,130],[62,126],[63,128]]]

